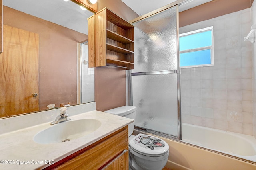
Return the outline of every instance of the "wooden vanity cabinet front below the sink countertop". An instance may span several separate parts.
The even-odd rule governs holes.
[[[104,137],[45,170],[128,170],[128,126]]]

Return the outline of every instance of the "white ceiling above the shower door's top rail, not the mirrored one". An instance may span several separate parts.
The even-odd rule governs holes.
[[[147,14],[148,12],[158,8],[162,8],[163,6],[166,6],[175,1],[177,0],[122,0],[122,2],[134,10],[134,12],[136,12],[139,16]],[[185,3],[179,6],[179,11],[181,12],[188,10],[189,8],[193,8],[210,1],[212,0],[186,0]]]

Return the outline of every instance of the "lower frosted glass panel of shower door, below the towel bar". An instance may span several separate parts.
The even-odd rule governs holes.
[[[177,137],[177,74],[132,76],[135,125]]]

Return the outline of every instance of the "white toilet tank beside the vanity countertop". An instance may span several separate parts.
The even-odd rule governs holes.
[[[136,109],[137,109],[137,107],[135,107],[135,106],[126,105],[126,106],[116,107],[114,109],[110,109],[105,112],[113,114],[113,115],[118,115],[118,116],[130,118],[130,119],[134,119],[134,121],[135,121]],[[134,130],[134,122],[129,124],[128,128],[129,128],[128,135],[130,136],[130,135],[132,135],[133,130]]]

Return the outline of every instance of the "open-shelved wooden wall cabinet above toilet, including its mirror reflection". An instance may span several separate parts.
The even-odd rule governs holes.
[[[93,22],[94,26],[90,25]],[[134,69],[134,26],[132,24],[108,8],[103,8],[88,18],[88,25],[88,36],[94,35],[95,40],[94,44],[89,44],[89,61],[92,61],[89,67],[108,65]],[[88,41],[90,42],[90,39]]]

